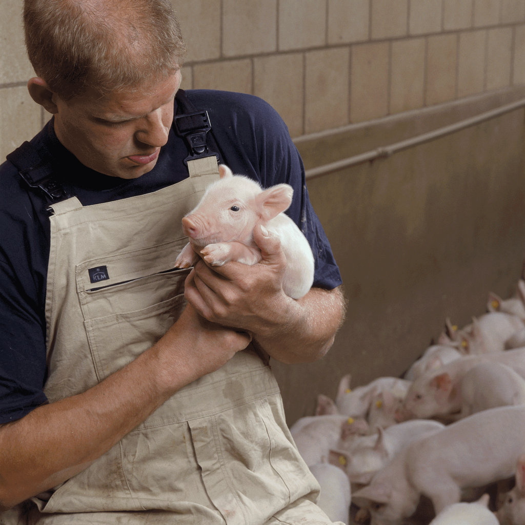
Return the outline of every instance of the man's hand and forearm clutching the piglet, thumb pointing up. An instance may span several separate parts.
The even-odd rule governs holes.
[[[299,300],[287,296],[280,240],[260,226],[254,239],[259,263],[198,261],[186,278],[185,297],[207,320],[253,334],[255,343],[278,361],[315,361],[328,351],[342,322],[342,293],[312,288]]]

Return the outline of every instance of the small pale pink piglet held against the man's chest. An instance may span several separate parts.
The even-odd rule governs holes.
[[[200,252],[209,264],[228,261],[253,265],[261,260],[253,231],[261,224],[281,240],[287,266],[283,291],[294,299],[305,295],[313,283],[314,262],[310,245],[288,215],[293,189],[277,184],[263,190],[257,182],[221,164],[220,180],[206,189],[197,206],[182,219],[189,241],[175,266],[193,266]]]

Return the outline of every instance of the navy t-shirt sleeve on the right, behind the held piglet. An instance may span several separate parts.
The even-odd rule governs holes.
[[[293,199],[286,213],[312,248],[313,286],[328,290],[339,286],[339,268],[308,197],[301,157],[277,111],[253,95],[206,90],[187,94],[197,107],[210,108],[220,155],[234,173],[252,177],[265,188],[282,182],[292,186]]]

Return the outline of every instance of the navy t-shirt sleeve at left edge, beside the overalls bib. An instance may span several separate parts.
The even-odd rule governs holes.
[[[0,423],[47,402],[45,243],[33,204],[27,192],[19,191],[11,166],[0,166]]]

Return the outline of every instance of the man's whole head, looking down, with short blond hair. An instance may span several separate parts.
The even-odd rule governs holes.
[[[83,164],[150,171],[173,120],[184,44],[170,0],[25,0],[31,97]]]

